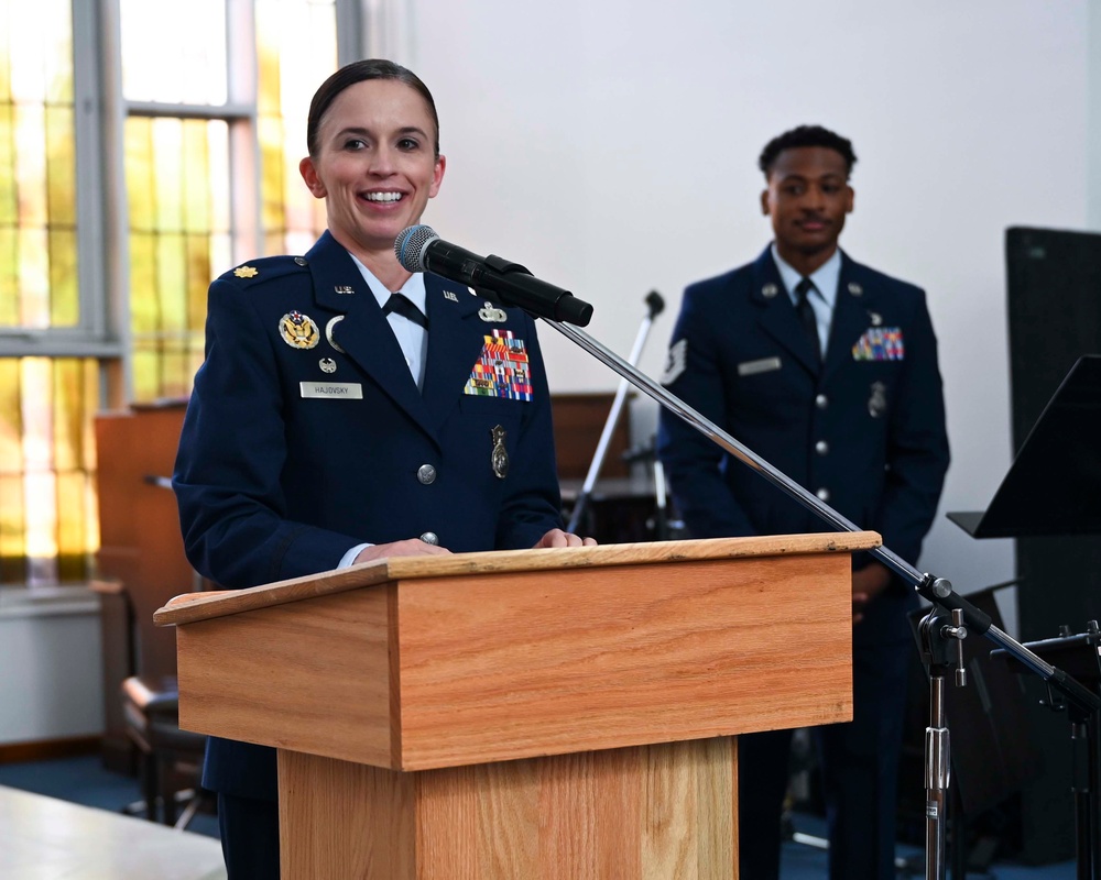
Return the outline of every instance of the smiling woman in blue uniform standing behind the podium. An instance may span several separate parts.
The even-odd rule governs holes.
[[[532,318],[411,274],[394,239],[446,162],[432,95],[385,61],[314,96],[308,253],[211,286],[173,485],[188,559],[228,588],[392,556],[592,543],[564,532]],[[211,738],[230,880],[279,877],[272,749]]]

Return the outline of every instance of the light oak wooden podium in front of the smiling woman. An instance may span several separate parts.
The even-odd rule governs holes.
[[[395,558],[155,622],[181,725],[279,749],[284,878],[734,878],[733,735],[851,719],[879,542]]]

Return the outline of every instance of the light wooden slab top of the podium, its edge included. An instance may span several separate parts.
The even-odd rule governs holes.
[[[157,626],[177,626],[366,586],[426,578],[499,574],[556,569],[647,565],[693,560],[807,553],[853,553],[879,547],[874,531],[771,535],[687,541],[610,543],[531,550],[495,550],[430,557],[393,557],[346,569],[294,578],[248,590],[185,593],[153,615]]]

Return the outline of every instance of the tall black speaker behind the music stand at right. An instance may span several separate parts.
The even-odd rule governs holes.
[[[1009,229],[1005,260],[1015,452],[1077,360],[1101,353],[1101,234]],[[1016,573],[1022,641],[1101,618],[1101,537],[1020,538]],[[1038,682],[1025,686],[1032,703],[1046,695]],[[1035,722],[1045,771],[1022,796],[1022,857],[1047,864],[1075,854],[1069,725],[1055,713]]]

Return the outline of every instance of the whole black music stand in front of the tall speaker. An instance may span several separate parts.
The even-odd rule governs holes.
[[[1101,535],[1101,356],[1083,355],[1071,367],[986,510],[950,513],[948,518],[974,538]],[[1092,638],[1095,644],[1097,635]],[[1044,657],[1038,648],[1054,646],[1040,641],[1026,647]],[[1076,668],[1082,666],[1076,662]],[[1098,674],[1079,680],[1098,692]],[[1055,694],[1051,703],[1068,710],[1078,765],[1071,785],[1078,877],[1097,880],[1101,878],[1101,714],[1073,701],[1064,703]]]

